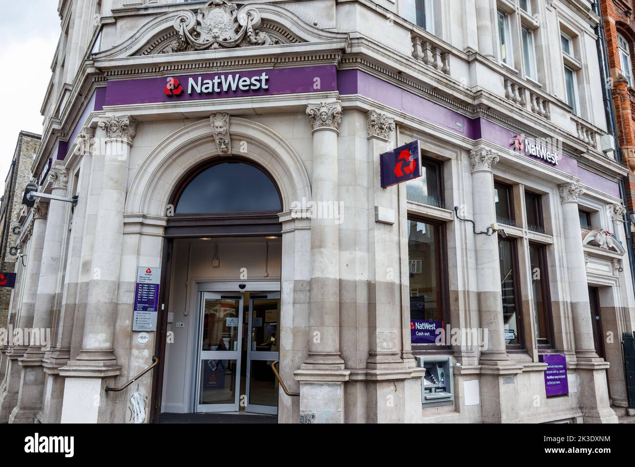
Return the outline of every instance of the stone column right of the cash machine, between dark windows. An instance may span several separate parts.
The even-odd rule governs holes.
[[[483,147],[470,154],[472,164],[472,203],[474,203],[474,227],[484,232],[496,222],[494,178],[492,166],[498,162],[498,154]],[[505,350],[505,325],[503,301],[500,290],[500,261],[497,234],[474,235],[476,268],[478,269],[478,304],[481,327],[488,330],[488,348],[481,352],[481,364],[498,365],[509,360]]]

